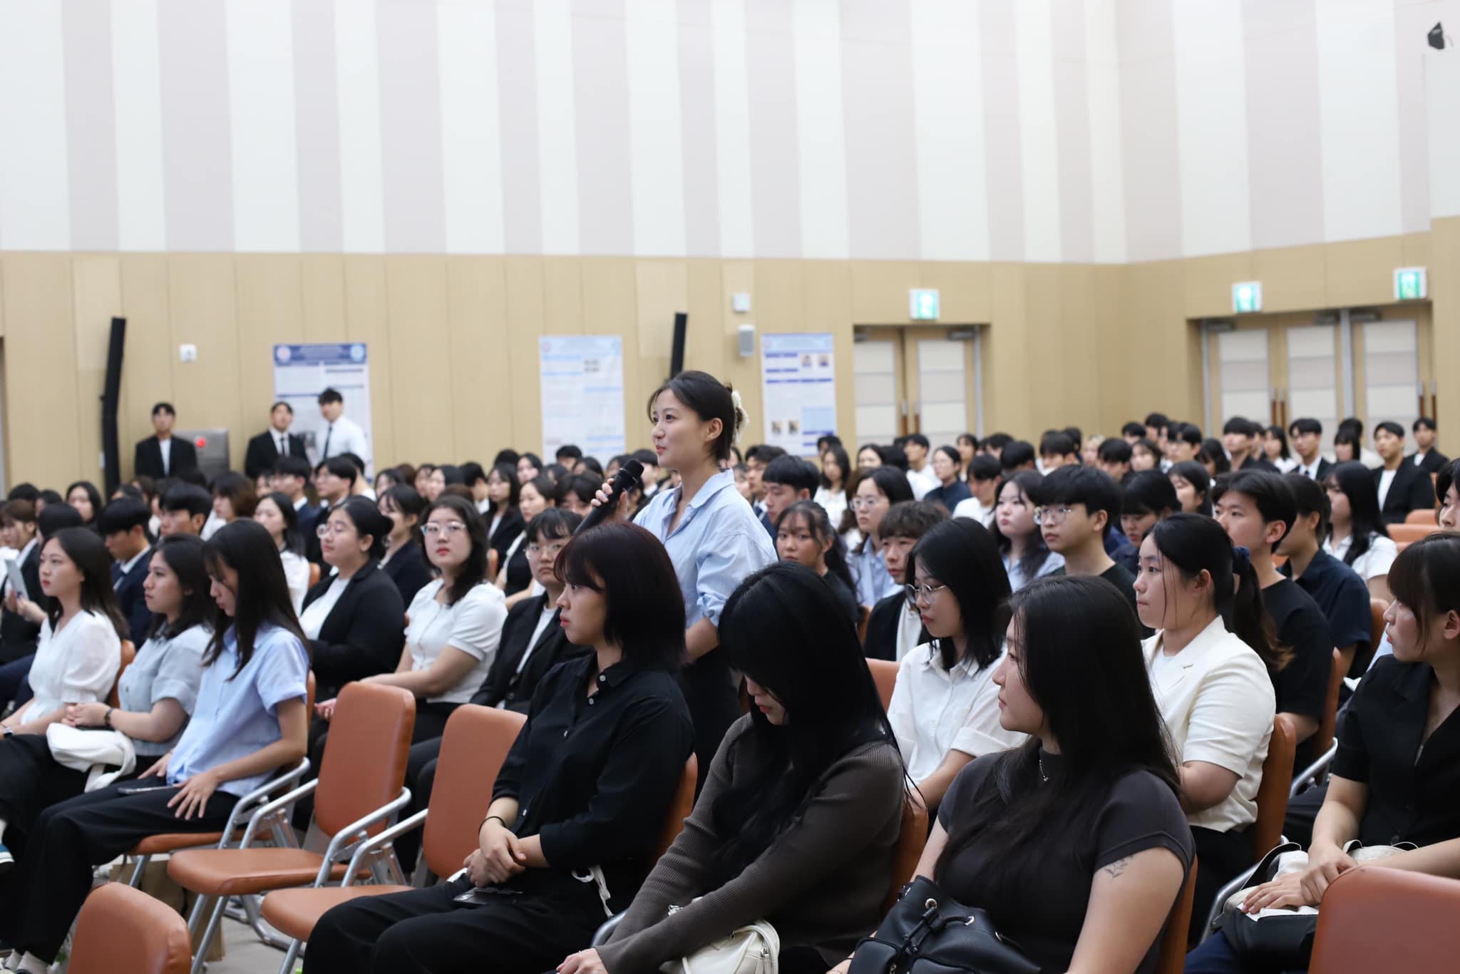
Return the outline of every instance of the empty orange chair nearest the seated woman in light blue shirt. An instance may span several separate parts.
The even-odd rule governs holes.
[[[190,917],[193,933],[201,924],[207,898],[216,897],[193,974],[203,971],[229,897],[318,886],[331,876],[346,875],[342,860],[362,838],[383,831],[387,819],[410,800],[410,789],[402,783],[415,721],[416,698],[410,692],[380,683],[346,683],[330,721],[318,778],[256,810],[238,848],[190,848],[168,860],[168,876],[200,894]],[[323,854],[251,847],[261,819],[310,793],[314,793],[314,821],[330,838]]]

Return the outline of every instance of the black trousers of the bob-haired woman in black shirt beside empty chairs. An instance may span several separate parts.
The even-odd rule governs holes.
[[[591,882],[552,870],[482,905],[453,902],[470,886],[463,876],[334,907],[310,935],[305,974],[540,974],[587,948],[607,919]]]

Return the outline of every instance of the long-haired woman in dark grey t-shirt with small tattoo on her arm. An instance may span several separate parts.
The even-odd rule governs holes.
[[[1092,578],[1034,583],[1010,612],[999,723],[1031,740],[964,767],[917,875],[1040,970],[1153,971],[1193,843],[1136,619]]]

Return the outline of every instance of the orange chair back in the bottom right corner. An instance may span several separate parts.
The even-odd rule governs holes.
[[[1310,974],[1448,974],[1460,956],[1460,881],[1383,866],[1343,873],[1323,894]]]

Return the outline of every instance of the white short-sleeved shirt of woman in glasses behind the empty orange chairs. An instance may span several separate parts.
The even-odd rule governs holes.
[[[437,578],[410,600],[406,648],[410,651],[412,672],[431,669],[448,645],[474,657],[476,666],[456,686],[426,699],[428,704],[466,704],[482,686],[502,644],[507,597],[501,588],[483,581],[448,606],[437,602],[442,584],[445,583]]]

